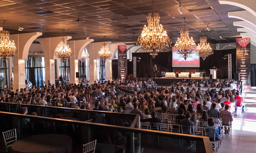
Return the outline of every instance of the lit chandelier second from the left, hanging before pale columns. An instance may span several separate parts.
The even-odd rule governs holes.
[[[70,58],[72,56],[71,49],[69,45],[67,45],[67,39],[64,39],[64,30],[62,30],[63,38],[60,39],[60,45],[54,51],[54,55],[58,58],[61,58],[62,62],[66,61],[66,58]]]

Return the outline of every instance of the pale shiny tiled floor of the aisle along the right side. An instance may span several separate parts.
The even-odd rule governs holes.
[[[241,115],[238,107],[232,136],[225,134],[218,153],[256,153],[256,90],[245,90],[243,100],[245,113]]]

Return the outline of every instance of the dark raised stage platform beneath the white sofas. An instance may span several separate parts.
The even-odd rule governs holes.
[[[204,79],[210,79],[209,77],[206,78],[156,78],[157,81],[157,85],[158,86],[170,86],[172,84],[172,82],[178,82],[178,81],[182,81],[182,79],[194,79],[194,80],[204,80]]]

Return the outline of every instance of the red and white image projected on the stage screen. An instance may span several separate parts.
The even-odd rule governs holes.
[[[173,52],[173,67],[199,67],[199,56],[195,53],[189,54],[185,60],[183,56]]]

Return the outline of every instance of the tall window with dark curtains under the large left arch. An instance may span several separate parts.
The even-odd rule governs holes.
[[[25,73],[28,79],[35,86],[45,85],[44,57],[28,57],[25,60]]]

